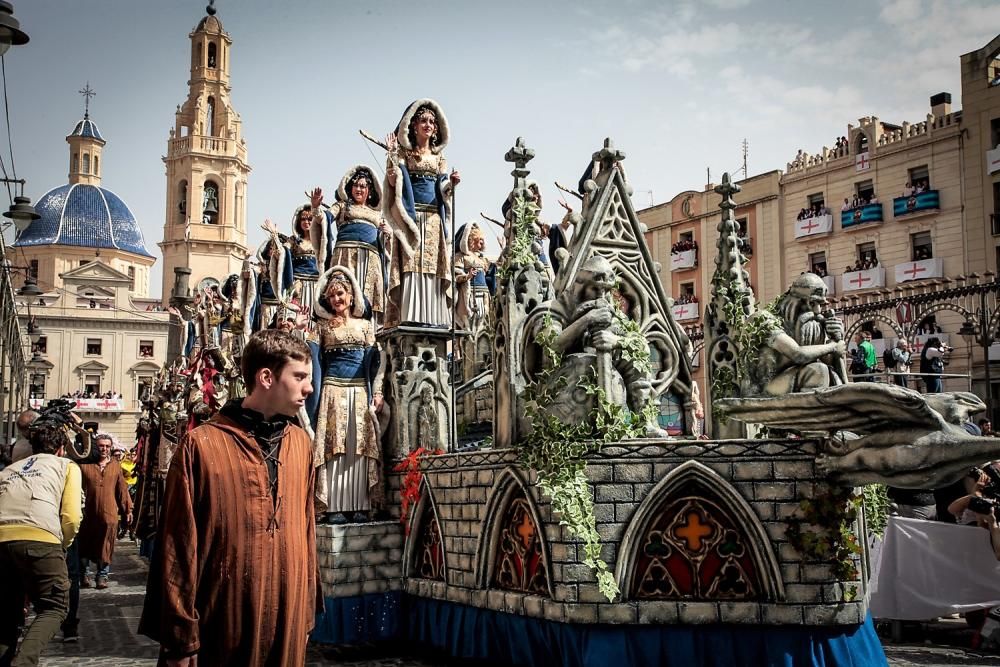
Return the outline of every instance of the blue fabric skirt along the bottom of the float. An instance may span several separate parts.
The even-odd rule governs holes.
[[[887,665],[861,625],[587,625],[390,592],[326,598],[311,640],[402,640],[458,659],[517,667],[870,667]]]

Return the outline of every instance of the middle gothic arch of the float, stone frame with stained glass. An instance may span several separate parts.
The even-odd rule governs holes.
[[[528,488],[513,466],[497,475],[476,545],[476,586],[551,598],[548,543]]]

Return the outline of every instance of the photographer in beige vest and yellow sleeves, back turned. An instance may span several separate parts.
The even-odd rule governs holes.
[[[63,458],[65,427],[39,419],[28,440],[33,454],[0,471],[0,667],[37,665],[66,618],[65,549],[83,518],[80,469]],[[36,616],[18,650],[25,595]]]

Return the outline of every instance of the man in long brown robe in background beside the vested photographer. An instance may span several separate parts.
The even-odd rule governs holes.
[[[76,536],[83,575],[80,586],[90,588],[90,563],[97,564],[97,588],[108,587],[108,572],[118,537],[118,515],[132,521],[132,498],[122,474],[121,464],[111,456],[111,436],[101,433],[94,439],[101,458],[97,463],[80,466],[86,506],[83,525]]]

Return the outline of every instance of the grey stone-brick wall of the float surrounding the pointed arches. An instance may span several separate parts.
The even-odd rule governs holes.
[[[780,579],[774,601],[608,603],[591,570],[580,562],[581,544],[558,524],[550,503],[535,487],[534,474],[517,468],[516,454],[510,450],[446,454],[424,460],[422,469],[444,542],[447,581],[408,578],[405,590],[424,597],[581,623],[859,623],[867,610],[864,583],[836,580],[832,563],[807,560],[786,539],[786,520],[799,511],[800,499],[812,497],[824,487],[815,471],[815,452],[816,443],[803,440],[640,441],[605,447],[591,457],[588,465],[601,553],[613,572],[642,501],[671,471],[694,460],[730,485],[763,527],[776,559],[776,578]],[[490,512],[503,510],[491,504],[495,503],[494,493],[503,491],[495,487],[498,483],[505,487],[515,477],[524,483],[543,526],[551,598],[493,590],[488,585],[484,566],[491,562],[493,547],[484,527],[489,525]],[[399,475],[389,476],[390,503],[398,501],[399,483]],[[398,516],[398,505],[390,509]],[[631,539],[634,542],[638,538]],[[860,570],[860,562],[856,566]],[[856,597],[851,599],[856,601],[845,601],[848,589],[853,589]]]

